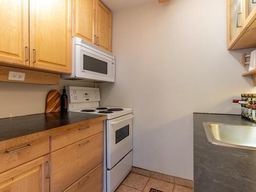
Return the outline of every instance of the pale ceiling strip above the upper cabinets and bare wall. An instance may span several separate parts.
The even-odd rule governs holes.
[[[152,0],[101,0],[111,11],[117,11],[127,7],[143,4]]]

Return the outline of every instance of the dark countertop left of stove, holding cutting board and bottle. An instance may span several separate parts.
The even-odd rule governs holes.
[[[13,139],[37,132],[48,131],[57,127],[86,121],[102,121],[105,115],[92,115],[86,113],[68,112],[41,113],[19,117],[0,119],[0,141]]]

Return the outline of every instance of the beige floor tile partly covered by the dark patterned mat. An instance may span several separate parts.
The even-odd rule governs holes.
[[[149,192],[151,188],[164,192],[173,192],[174,184],[150,178],[143,191]]]

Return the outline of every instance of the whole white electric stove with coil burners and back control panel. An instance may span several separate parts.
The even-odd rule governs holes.
[[[99,88],[66,86],[69,111],[106,115],[104,130],[104,189],[114,192],[133,164],[133,115],[130,108],[99,106]]]

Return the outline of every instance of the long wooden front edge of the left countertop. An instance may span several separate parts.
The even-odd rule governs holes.
[[[36,132],[36,133],[32,133],[32,134],[28,134],[28,135],[24,135],[24,136],[20,136],[20,137],[15,137],[12,139],[7,139],[7,140],[3,140],[0,141],[0,151],[5,150],[6,148],[10,148],[16,145],[21,145],[24,143],[29,143],[31,141],[37,140],[37,139],[42,139],[45,137],[50,137],[51,135],[55,135],[55,134],[59,134],[62,132],[66,132],[72,129],[77,129],[80,126],[84,126],[86,124],[90,124],[90,123],[96,123],[96,122],[100,122],[100,121],[104,121],[107,119],[107,116],[100,116],[100,117],[96,117],[93,119],[89,119],[89,120],[84,120],[84,121],[80,121],[77,123],[72,123],[72,124],[68,124],[68,125],[64,125],[64,126],[59,126],[59,127],[55,127],[46,131],[40,131],[40,132]]]

